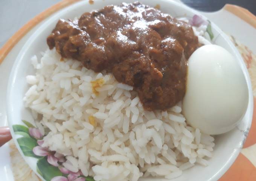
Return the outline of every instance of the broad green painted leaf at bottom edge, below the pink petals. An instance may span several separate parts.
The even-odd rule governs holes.
[[[46,181],[50,181],[55,176],[62,176],[62,173],[59,170],[59,168],[49,164],[46,158],[38,160],[37,167]]]

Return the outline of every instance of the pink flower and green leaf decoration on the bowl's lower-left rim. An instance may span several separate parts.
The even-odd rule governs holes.
[[[62,163],[66,161],[64,155],[50,151],[43,147],[43,134],[31,123],[22,120],[26,125],[13,125],[15,134],[21,135],[17,139],[24,156],[37,158],[37,172],[46,181],[94,181],[91,176],[85,177],[82,172],[72,172]]]

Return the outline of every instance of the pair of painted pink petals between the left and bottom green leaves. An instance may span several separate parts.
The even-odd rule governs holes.
[[[47,148],[44,148],[42,146],[35,146],[33,148],[33,152],[37,156],[45,157],[47,156],[47,161],[53,166],[59,166],[58,164],[58,158],[56,158]]]

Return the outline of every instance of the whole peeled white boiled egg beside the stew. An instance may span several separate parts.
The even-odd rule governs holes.
[[[188,60],[183,114],[206,134],[232,130],[248,106],[245,76],[235,57],[218,45],[198,48]]]

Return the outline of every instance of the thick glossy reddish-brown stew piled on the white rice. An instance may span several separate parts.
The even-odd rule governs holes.
[[[61,19],[47,44],[88,69],[112,72],[146,110],[166,110],[184,97],[187,59],[200,46],[187,23],[139,2]]]

